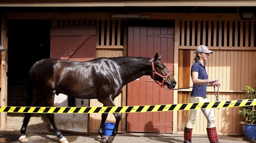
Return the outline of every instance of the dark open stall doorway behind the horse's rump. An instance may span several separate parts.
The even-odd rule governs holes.
[[[50,58],[50,28],[51,20],[8,20],[8,106],[27,105],[28,72]]]

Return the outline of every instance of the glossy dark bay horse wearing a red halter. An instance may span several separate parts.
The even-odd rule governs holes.
[[[55,94],[60,93],[81,99],[98,99],[103,106],[115,106],[114,99],[120,94],[124,85],[149,75],[159,84],[174,88],[176,81],[168,69],[160,61],[161,55],[155,58],[116,57],[95,58],[87,62],[73,62],[57,58],[48,58],[36,62],[29,71],[29,78],[37,91],[37,97],[31,106],[41,106],[42,100],[46,107],[54,106]],[[42,106],[41,106],[42,107]],[[104,136],[104,123],[108,113],[101,115],[99,135],[102,143],[111,143],[117,134],[120,113],[113,113],[116,124],[108,139]],[[20,129],[20,142],[27,142],[26,130],[32,113],[26,113]],[[60,138],[60,143],[68,143],[62,136],[54,121],[54,114],[47,114],[49,121]]]

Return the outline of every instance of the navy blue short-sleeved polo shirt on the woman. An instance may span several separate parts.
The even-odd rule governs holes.
[[[198,79],[208,79],[208,74],[205,70],[205,65],[206,65],[206,62],[204,62],[204,65],[202,65],[201,62],[196,61],[191,67],[190,75],[192,74],[192,71],[197,71]],[[200,85],[200,86],[194,87],[190,93],[190,96],[207,97],[206,88],[207,88],[207,85]]]

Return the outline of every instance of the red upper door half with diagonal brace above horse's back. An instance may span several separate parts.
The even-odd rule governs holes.
[[[51,58],[88,61],[96,57],[95,26],[51,28]]]

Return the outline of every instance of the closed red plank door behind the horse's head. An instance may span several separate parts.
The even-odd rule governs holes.
[[[153,58],[162,54],[161,61],[173,73],[174,28],[129,27],[128,56]],[[162,105],[173,103],[173,91],[161,88],[150,76],[142,76],[127,87],[127,105]],[[127,131],[172,133],[172,111],[127,113]]]

